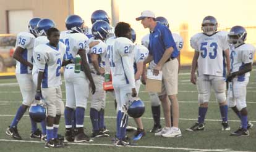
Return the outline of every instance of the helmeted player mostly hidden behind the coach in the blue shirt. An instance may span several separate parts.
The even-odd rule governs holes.
[[[169,28],[169,23],[168,20],[164,17],[156,17],[156,22],[161,23],[162,25],[168,26]],[[177,34],[177,33],[172,33],[173,34],[173,39],[174,42],[176,43],[176,47],[179,50],[179,56],[177,57],[177,60],[179,62],[179,69],[180,69],[180,57],[181,57],[181,49],[183,47],[183,39],[182,37]],[[149,34],[145,35],[142,38],[142,45],[145,47],[148,47],[149,44]],[[148,69],[153,69],[153,67],[155,66],[155,63],[152,61],[150,62]],[[142,76],[142,82],[145,83],[145,73],[143,73]],[[158,94],[156,92],[149,92],[148,93],[150,96],[150,101],[151,101],[151,112],[153,115],[153,121],[154,121],[154,126],[153,128],[150,130],[150,132],[159,132],[161,130],[161,124],[160,124],[160,117],[161,117],[161,108],[160,108],[160,100],[158,98]],[[171,106],[172,108],[172,106]],[[172,110],[171,110],[172,112]],[[171,126],[173,126],[173,114],[171,113]]]

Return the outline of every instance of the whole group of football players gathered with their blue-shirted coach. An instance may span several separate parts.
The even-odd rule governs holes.
[[[17,124],[30,108],[30,138],[45,141],[45,148],[109,137],[104,119],[108,91],[113,95],[117,114],[114,145],[132,145],[145,136],[141,119],[145,105],[138,94],[140,85],[147,85],[146,71],[151,70],[156,76],[163,71],[163,79],[161,92],[148,92],[154,121],[150,132],[162,137],[180,137],[176,95],[183,39],[171,33],[166,18],[155,17],[150,10],[143,11],[136,20],[141,20],[143,27],[150,30],[141,44],[135,44],[136,33],[129,23],[119,22],[112,27],[104,10],[93,12],[92,28],[85,26],[79,15],[69,15],[66,31],[59,31],[48,18],[32,18],[28,23],[29,31],[17,35],[13,57],[17,60],[15,73],[23,102],[6,134],[22,139]],[[197,85],[199,107],[198,121],[186,130],[205,129],[212,87],[220,106],[221,130],[231,130],[228,124],[228,107],[231,107],[241,119],[241,126],[231,135],[248,136],[248,129],[253,124],[247,119],[246,87],[255,48],[245,44],[247,32],[244,27],[234,26],[229,32],[217,31],[217,27],[216,18],[207,16],[203,18],[203,32],[190,39],[195,50],[190,81]],[[62,102],[61,68],[66,105]],[[83,129],[89,97],[92,135],[85,134]],[[164,127],[160,123],[160,103]],[[58,134],[61,115],[65,119],[64,136]],[[134,118],[136,127],[127,124],[129,117]],[[38,122],[41,130],[37,127]],[[135,131],[132,138],[126,136],[126,131],[130,130]]]

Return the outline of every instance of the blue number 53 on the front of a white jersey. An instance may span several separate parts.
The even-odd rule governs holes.
[[[208,54],[207,44],[208,44],[208,42],[202,42],[201,43],[200,54],[201,54],[202,58],[207,57],[207,54]],[[213,48],[213,52],[209,52],[209,57],[211,59],[215,59],[217,57],[218,44],[216,44],[216,42],[212,42],[210,44],[210,47]]]

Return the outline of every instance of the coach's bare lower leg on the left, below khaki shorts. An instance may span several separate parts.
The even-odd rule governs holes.
[[[171,127],[171,111],[170,111],[170,103],[167,98],[167,95],[159,96],[161,100],[161,104],[163,107],[164,119],[165,119],[165,126]]]

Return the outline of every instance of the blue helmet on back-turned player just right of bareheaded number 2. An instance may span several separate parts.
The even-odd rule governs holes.
[[[84,33],[85,31],[84,21],[79,15],[69,15],[65,23],[67,30],[76,31],[78,33]]]

